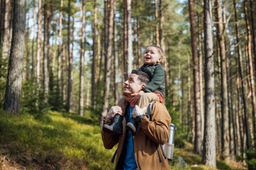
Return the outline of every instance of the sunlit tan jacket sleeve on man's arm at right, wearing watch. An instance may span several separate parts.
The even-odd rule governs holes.
[[[144,130],[144,133],[151,140],[163,145],[168,141],[171,117],[166,107],[156,102],[152,109],[152,121],[148,120],[148,116],[144,116],[138,124]]]

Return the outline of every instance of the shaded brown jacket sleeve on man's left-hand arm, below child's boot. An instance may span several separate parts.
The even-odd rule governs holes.
[[[103,125],[105,124],[107,123],[103,122]],[[108,123],[108,125],[111,125],[111,123]],[[112,149],[118,143],[118,136],[105,133],[103,130],[101,130],[101,138],[106,149]]]

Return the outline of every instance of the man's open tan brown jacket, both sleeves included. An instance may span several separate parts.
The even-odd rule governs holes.
[[[125,112],[127,114],[129,112]],[[148,120],[148,115],[144,116],[141,122],[138,133],[133,135],[133,146],[136,163],[138,170],[169,170],[168,160],[164,159],[164,155],[161,151],[159,144],[164,144],[168,140],[169,128],[171,123],[171,117],[165,107],[160,102],[156,102],[152,109],[152,121]],[[118,143],[115,169],[123,169],[123,157],[122,152],[123,144],[125,141],[125,117],[123,117],[123,134],[120,136],[105,133],[102,130],[102,141],[106,149],[112,149]],[[105,122],[104,122],[105,124]],[[108,124],[111,124],[108,123]],[[161,163],[156,150],[156,145],[159,150]]]

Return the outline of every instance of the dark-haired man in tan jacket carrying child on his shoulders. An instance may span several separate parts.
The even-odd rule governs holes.
[[[129,98],[148,82],[149,77],[145,72],[133,70],[125,81],[123,94]],[[160,102],[155,102],[153,105],[152,121],[148,119],[148,115],[143,114],[145,110],[146,107],[140,109],[137,105],[129,103],[125,113],[122,112],[121,107],[113,106],[104,117],[103,124],[111,125],[112,118],[116,114],[123,115],[121,135],[109,134],[102,130],[102,141],[106,149],[111,149],[118,144],[116,170],[169,169],[168,160],[164,159],[159,144],[164,144],[168,140],[171,117],[166,107]],[[134,135],[125,129],[126,123],[131,122],[132,118],[135,118],[140,126],[138,133]]]

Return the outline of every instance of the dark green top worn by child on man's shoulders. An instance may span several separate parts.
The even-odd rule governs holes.
[[[142,88],[144,92],[157,92],[164,97],[164,70],[160,64],[145,64],[142,65],[139,71],[146,72],[150,78],[150,82]]]

